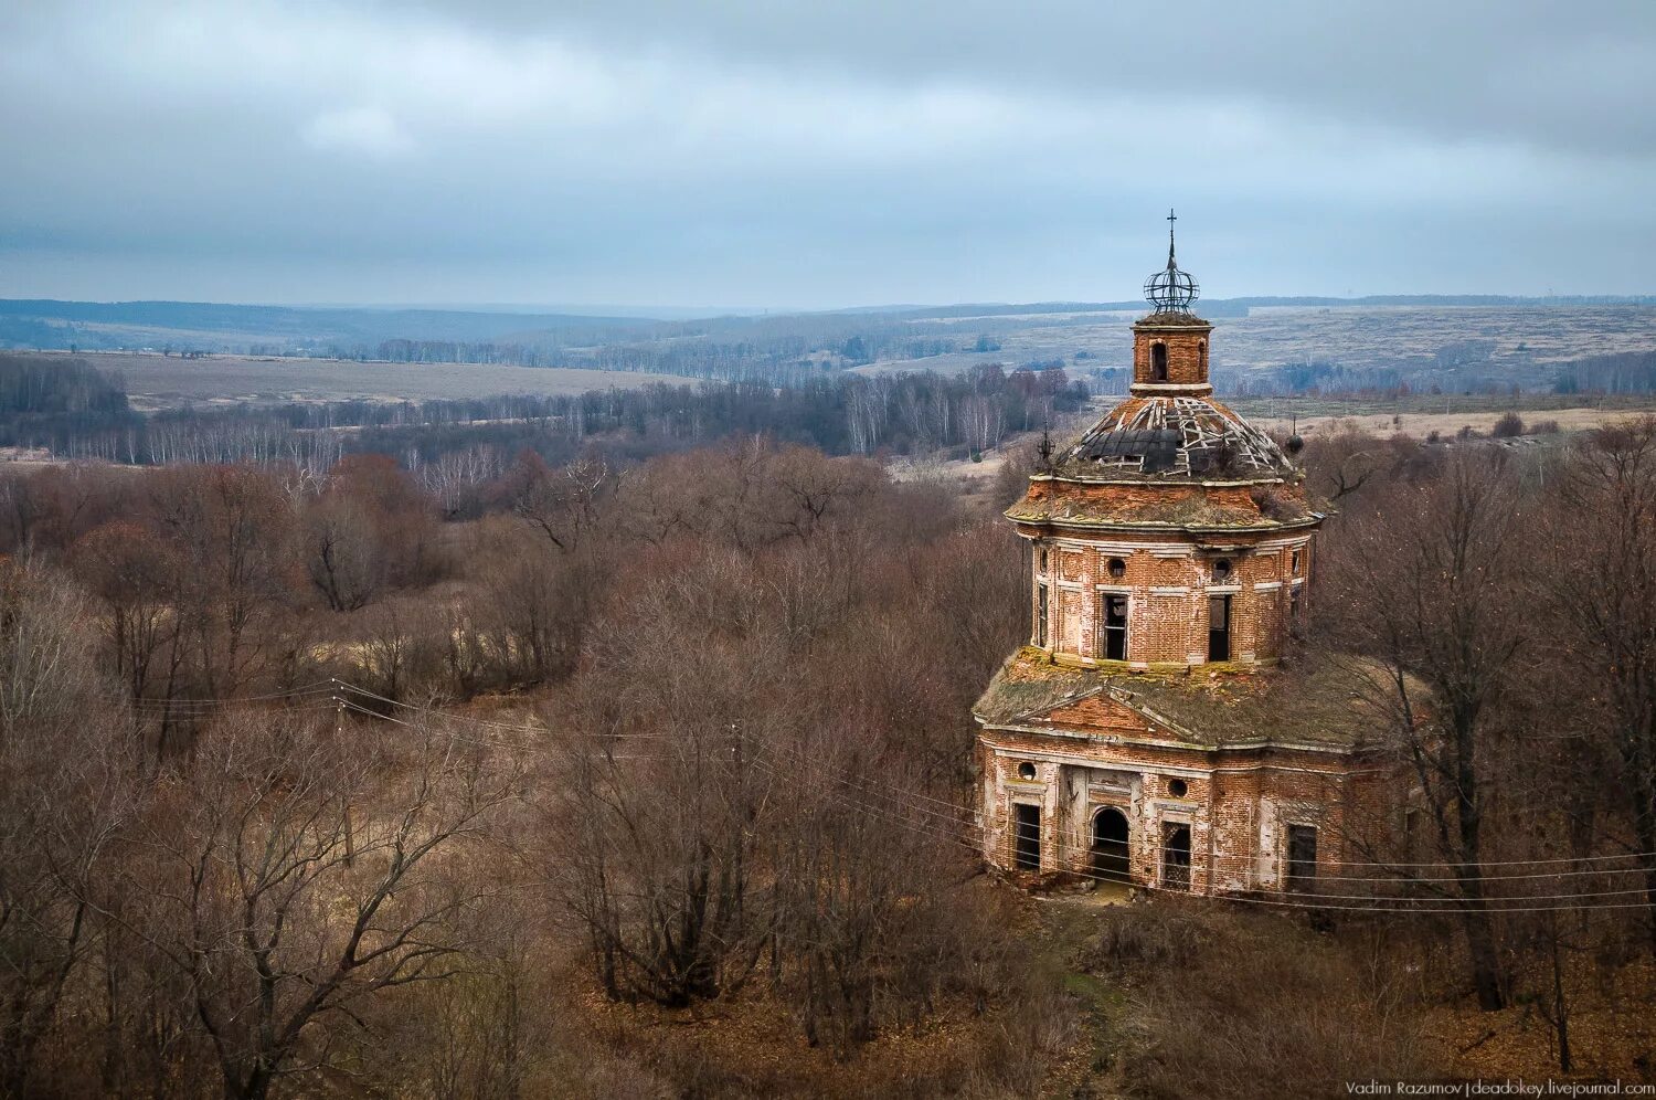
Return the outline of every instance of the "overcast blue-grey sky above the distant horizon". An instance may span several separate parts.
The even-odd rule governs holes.
[[[1656,293],[1656,2],[0,0],[0,297]]]

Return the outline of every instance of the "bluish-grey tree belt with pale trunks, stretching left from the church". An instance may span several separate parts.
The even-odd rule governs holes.
[[[1060,368],[959,376],[836,374],[797,386],[753,381],[595,389],[580,396],[469,401],[335,401],[134,412],[118,376],[81,359],[0,358],[0,446],[132,466],[291,462],[323,472],[344,454],[386,454],[409,469],[455,462],[493,470],[522,451],[566,462],[598,449],[618,461],[767,434],[828,454],[962,456],[1075,412],[1088,388]]]

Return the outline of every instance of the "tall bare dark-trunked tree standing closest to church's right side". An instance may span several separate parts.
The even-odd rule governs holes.
[[[1522,674],[1522,530],[1515,477],[1475,452],[1437,480],[1376,494],[1331,532],[1325,555],[1325,618],[1384,664],[1384,714],[1452,871],[1485,1011],[1504,1004],[1482,861],[1492,769],[1514,737],[1505,704]]]

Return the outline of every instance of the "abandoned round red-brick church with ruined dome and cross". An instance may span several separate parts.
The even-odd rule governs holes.
[[[1310,890],[1396,790],[1341,661],[1277,668],[1323,515],[1214,401],[1196,282],[1146,282],[1131,396],[1048,454],[1007,517],[1030,639],[974,707],[985,856],[1194,893]]]

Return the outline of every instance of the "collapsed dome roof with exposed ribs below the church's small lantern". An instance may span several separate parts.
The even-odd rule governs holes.
[[[1057,459],[1066,477],[1293,477],[1277,442],[1209,398],[1129,398]]]

